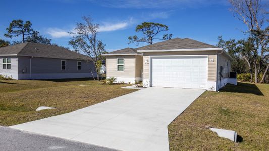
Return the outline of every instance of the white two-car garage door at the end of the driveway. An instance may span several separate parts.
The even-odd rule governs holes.
[[[153,87],[205,89],[207,56],[153,57]]]

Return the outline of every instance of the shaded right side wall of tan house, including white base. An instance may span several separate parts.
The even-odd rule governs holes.
[[[225,56],[224,54],[219,54],[217,56],[217,90],[220,88],[224,87],[229,78],[229,73],[231,71],[231,60],[229,60],[229,57]],[[226,62],[226,64],[224,64]],[[228,62],[228,64],[227,64]],[[221,73],[221,66],[223,66],[223,72],[222,76],[220,75]]]

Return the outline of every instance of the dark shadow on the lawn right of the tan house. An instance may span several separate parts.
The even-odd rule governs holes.
[[[240,82],[237,83],[237,86],[227,84],[225,87],[220,89],[220,92],[252,93],[258,96],[264,96],[255,84]]]

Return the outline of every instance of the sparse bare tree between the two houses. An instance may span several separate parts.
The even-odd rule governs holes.
[[[82,16],[85,23],[76,23],[76,28],[71,34],[75,34],[69,41],[69,44],[76,52],[84,52],[91,58],[90,61],[94,63],[97,72],[97,79],[99,79],[102,56],[105,53],[105,45],[101,40],[97,39],[99,24],[94,24],[90,16]]]

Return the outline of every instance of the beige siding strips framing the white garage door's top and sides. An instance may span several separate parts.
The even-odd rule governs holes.
[[[170,56],[170,55],[208,55],[208,81],[216,81],[216,67],[217,67],[217,51],[184,51],[184,52],[144,52],[144,70],[143,79],[149,79],[149,63],[146,64],[145,60],[149,62],[149,56]],[[214,59],[214,62],[210,62]]]

